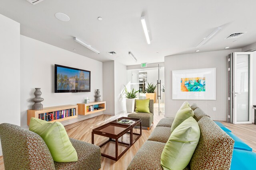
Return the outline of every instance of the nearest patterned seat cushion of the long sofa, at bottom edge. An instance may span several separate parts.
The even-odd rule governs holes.
[[[160,161],[165,143],[146,141],[126,170],[163,170]],[[189,170],[186,167],[184,170]]]

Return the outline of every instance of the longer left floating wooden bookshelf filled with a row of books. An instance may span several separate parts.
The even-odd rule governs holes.
[[[27,110],[27,124],[29,125],[31,117],[36,117],[45,121],[64,121],[77,117],[77,105],[64,105],[44,107],[42,110]]]

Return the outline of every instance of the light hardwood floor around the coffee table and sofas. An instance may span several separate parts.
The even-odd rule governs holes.
[[[116,116],[100,115],[91,119],[73,123],[71,125],[66,125],[65,128],[69,137],[91,143],[92,129],[100,125],[103,125],[105,123],[108,123],[118,117],[122,117],[126,115],[127,113],[123,113]],[[158,114],[155,114],[154,124],[151,126],[151,129],[148,131],[146,128],[143,128],[142,136],[140,137],[140,139],[136,141],[136,143],[117,162],[114,160],[110,160],[108,158],[102,157],[101,170],[126,170],[126,168],[128,167],[129,163],[131,162],[136,152],[140,149],[143,143],[148,139],[148,136],[154,130],[158,121],[163,117],[164,116],[162,114],[160,114],[160,116],[158,116]],[[252,147],[253,152],[256,152],[256,135],[255,135],[256,125],[254,124],[234,125],[231,123],[227,123],[225,121],[221,121],[221,122],[226,127],[228,127],[232,131],[232,133],[237,135],[240,139],[242,139],[250,147]],[[128,140],[128,136],[124,136],[122,140]],[[96,145],[98,145],[102,141],[104,141],[102,137],[95,136]],[[113,154],[114,150],[112,150],[111,148],[114,148],[114,147],[112,147],[111,145],[113,144],[110,143],[108,146],[102,147],[102,151],[108,154]],[[120,148],[121,148],[120,150],[122,151],[122,149],[124,149],[124,146],[121,146]],[[4,170],[4,162],[1,156],[0,156],[0,170]]]

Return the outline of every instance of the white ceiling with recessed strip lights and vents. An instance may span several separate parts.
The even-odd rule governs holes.
[[[70,21],[57,20],[56,12],[67,14]],[[222,30],[201,46],[200,52],[256,42],[255,0],[44,0],[36,5],[26,0],[0,0],[0,14],[18,21],[22,35],[98,61],[116,60],[125,65],[163,62],[167,55],[195,53],[196,45],[218,26],[223,26]],[[150,45],[140,22],[142,14],[150,31]],[[102,21],[97,20],[99,16]],[[248,33],[224,39],[236,32]],[[73,37],[100,54],[76,43]],[[116,51],[117,57],[108,55],[109,51]]]

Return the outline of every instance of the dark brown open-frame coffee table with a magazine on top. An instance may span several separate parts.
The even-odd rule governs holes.
[[[128,120],[132,120],[132,121],[128,124],[118,123],[118,121],[120,121],[122,119],[128,119]],[[133,133],[133,128],[138,124],[140,124],[140,133]],[[130,141],[129,142],[118,141],[118,139],[120,137],[122,137],[123,135],[125,135],[126,133],[130,134]],[[120,118],[118,118],[114,121],[106,123],[105,125],[97,127],[95,129],[92,129],[92,144],[94,144],[94,134],[109,138],[108,141],[102,143],[99,147],[102,147],[103,145],[106,145],[106,143],[108,143],[110,141],[115,142],[115,144],[116,144],[115,157],[104,154],[104,153],[101,153],[101,155],[106,157],[106,158],[110,158],[112,160],[117,161],[141,137],[141,134],[142,134],[141,120],[131,118],[131,117],[120,117]],[[133,139],[133,135],[137,135],[136,139]],[[118,143],[127,145],[127,148],[120,155],[118,155]]]

